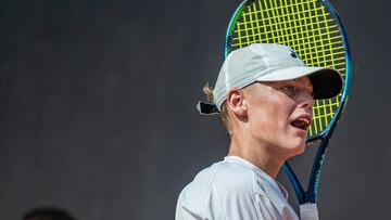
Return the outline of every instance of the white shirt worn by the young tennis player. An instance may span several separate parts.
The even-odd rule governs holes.
[[[181,191],[175,219],[298,220],[287,197],[287,191],[255,165],[227,156]]]

